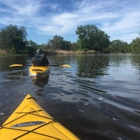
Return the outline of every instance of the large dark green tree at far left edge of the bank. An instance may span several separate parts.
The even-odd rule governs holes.
[[[6,50],[7,54],[12,49],[18,53],[26,45],[27,32],[24,26],[18,28],[16,25],[9,25],[0,30],[0,46]]]

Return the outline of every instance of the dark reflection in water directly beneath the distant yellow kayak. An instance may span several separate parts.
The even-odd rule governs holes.
[[[32,84],[38,87],[44,87],[46,84],[48,84],[49,81],[49,75],[45,77],[31,77],[31,78],[32,78]]]

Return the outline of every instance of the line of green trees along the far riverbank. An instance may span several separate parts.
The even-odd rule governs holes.
[[[75,31],[77,42],[64,40],[63,37],[55,35],[46,44],[37,44],[27,40],[27,32],[24,26],[8,25],[0,29],[0,49],[7,54],[32,54],[40,47],[49,50],[94,50],[96,53],[140,53],[140,38],[134,39],[130,44],[122,40],[110,41],[104,31],[95,25],[78,26]]]

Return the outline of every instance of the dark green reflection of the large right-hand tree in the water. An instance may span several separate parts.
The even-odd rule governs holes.
[[[78,58],[78,76],[92,78],[105,75],[109,65],[108,55],[80,56]]]

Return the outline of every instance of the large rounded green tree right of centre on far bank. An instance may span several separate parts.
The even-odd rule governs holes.
[[[104,51],[110,44],[109,36],[95,25],[78,26],[76,35],[80,49]]]

